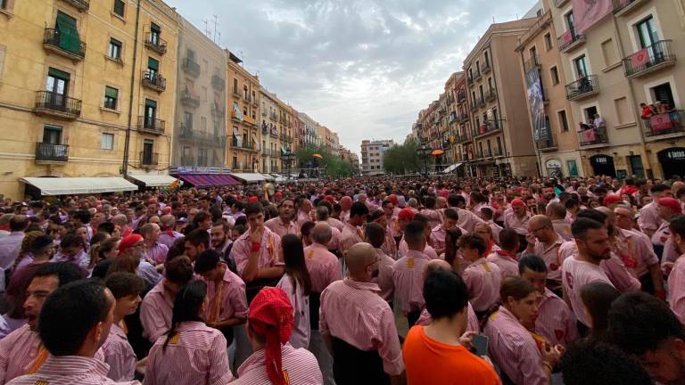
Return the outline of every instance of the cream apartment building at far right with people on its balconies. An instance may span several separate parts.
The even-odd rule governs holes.
[[[573,2],[552,0],[548,6],[570,115],[584,125],[574,129],[586,172],[683,175],[684,2],[606,0],[574,9]],[[642,102],[658,104],[658,111],[643,115]]]

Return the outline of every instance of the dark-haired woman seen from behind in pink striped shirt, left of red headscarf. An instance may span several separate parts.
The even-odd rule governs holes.
[[[226,384],[233,380],[226,338],[202,321],[207,284],[191,281],[177,292],[171,329],[150,349],[145,384]]]

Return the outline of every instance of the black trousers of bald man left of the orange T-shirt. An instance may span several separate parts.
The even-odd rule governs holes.
[[[337,385],[390,385],[376,350],[360,350],[333,337],[333,377]]]

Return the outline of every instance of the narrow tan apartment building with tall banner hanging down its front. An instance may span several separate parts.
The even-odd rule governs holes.
[[[549,4],[524,35],[516,53],[522,64],[533,142],[542,176],[585,176],[571,103],[565,94],[565,71]]]

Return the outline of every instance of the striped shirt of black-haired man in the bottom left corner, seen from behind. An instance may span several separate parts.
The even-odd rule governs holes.
[[[110,366],[84,356],[48,356],[35,374],[8,382],[11,385],[140,385],[138,381],[117,382],[107,377]],[[147,379],[145,379],[147,383]]]

